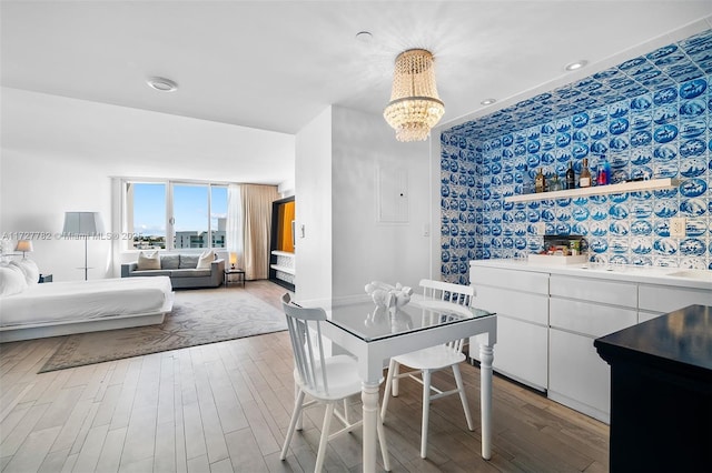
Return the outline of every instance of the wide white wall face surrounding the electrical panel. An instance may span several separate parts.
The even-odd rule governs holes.
[[[332,137],[333,295],[363,295],[374,280],[417,288],[431,276],[429,143],[396,141],[383,117],[342,107]],[[407,181],[405,222],[378,221],[379,172]]]

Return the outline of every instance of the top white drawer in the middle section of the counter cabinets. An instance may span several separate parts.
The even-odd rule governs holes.
[[[637,308],[637,284],[634,283],[552,274],[550,286],[552,295]]]

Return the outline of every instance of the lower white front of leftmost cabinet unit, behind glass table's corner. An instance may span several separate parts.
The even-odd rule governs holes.
[[[495,371],[545,391],[548,378],[547,332],[546,326],[497,315]],[[475,338],[469,339],[469,355],[479,360],[479,345]]]

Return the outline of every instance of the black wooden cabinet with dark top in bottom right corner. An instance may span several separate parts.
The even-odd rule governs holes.
[[[610,471],[712,472],[712,306],[594,341],[611,365]]]

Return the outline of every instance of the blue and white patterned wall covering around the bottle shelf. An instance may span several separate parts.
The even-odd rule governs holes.
[[[543,249],[580,234],[600,260],[712,270],[712,30],[541,93],[441,134],[442,274],[468,283],[468,262]],[[675,178],[674,189],[505,202],[540,168],[563,181],[583,158],[612,182]],[[670,236],[670,219],[686,235]]]

